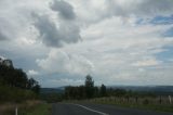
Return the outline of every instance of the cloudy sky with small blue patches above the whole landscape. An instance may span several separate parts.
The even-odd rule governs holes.
[[[173,0],[0,0],[0,56],[41,87],[173,85]]]

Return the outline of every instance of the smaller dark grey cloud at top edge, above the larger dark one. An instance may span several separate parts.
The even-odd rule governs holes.
[[[74,20],[76,14],[74,12],[74,8],[62,0],[54,0],[53,4],[50,5],[53,11],[58,11],[59,15],[66,20]]]

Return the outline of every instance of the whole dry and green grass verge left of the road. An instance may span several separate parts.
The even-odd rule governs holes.
[[[18,108],[18,115],[51,115],[51,104],[40,101],[1,104],[0,115],[14,115],[16,106]]]

